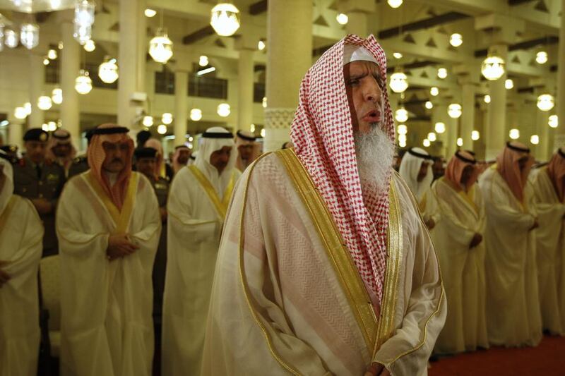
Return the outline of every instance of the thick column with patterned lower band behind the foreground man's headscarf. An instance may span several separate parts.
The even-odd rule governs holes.
[[[266,152],[290,139],[300,83],[312,63],[311,1],[270,0],[267,44]]]

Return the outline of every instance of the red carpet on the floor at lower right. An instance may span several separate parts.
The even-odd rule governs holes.
[[[432,363],[430,376],[563,376],[565,375],[565,337],[545,336],[540,346],[489,348],[441,358]]]

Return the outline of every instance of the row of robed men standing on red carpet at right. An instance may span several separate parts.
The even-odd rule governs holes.
[[[446,289],[435,353],[565,335],[565,150],[538,164],[519,142],[489,164],[458,151],[433,183],[431,159],[409,150],[400,175],[420,204]]]

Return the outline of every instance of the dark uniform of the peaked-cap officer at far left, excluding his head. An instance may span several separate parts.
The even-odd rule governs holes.
[[[40,174],[40,175],[38,175]],[[57,207],[57,200],[65,184],[65,169],[57,163],[44,162],[40,171],[30,159],[23,158],[13,166],[14,193],[28,199],[44,198]],[[55,211],[41,214],[45,228],[43,236],[43,257],[59,253],[55,233]]]

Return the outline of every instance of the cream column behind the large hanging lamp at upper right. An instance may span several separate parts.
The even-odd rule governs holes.
[[[504,61],[507,59],[508,47],[504,44],[494,45],[491,51],[496,52]],[[506,73],[501,78],[489,81],[490,104],[489,104],[489,126],[485,135],[486,150],[485,157],[494,159],[504,147],[506,133]]]

